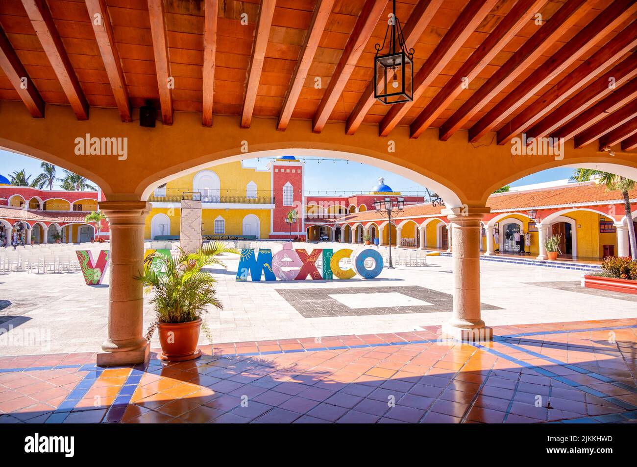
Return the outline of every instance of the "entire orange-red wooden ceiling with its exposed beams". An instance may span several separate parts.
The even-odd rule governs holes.
[[[272,118],[280,130],[294,118],[311,120],[314,132],[347,122],[353,134],[371,123],[385,135],[396,125],[412,137],[440,129],[441,139],[462,129],[471,141],[506,144],[527,132],[634,150],[637,1],[400,0],[417,99],[385,106],[370,95],[391,8],[387,0],[3,0],[0,100],[24,101],[36,118],[43,101],[70,105],[80,120],[106,107],[129,121],[131,108],[150,100],[164,124],[179,118],[174,110],[202,113],[206,126],[213,114],[241,116],[243,126]]]

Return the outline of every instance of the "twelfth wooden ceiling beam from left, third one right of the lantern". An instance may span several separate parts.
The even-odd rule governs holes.
[[[522,44],[517,52],[513,53],[505,64],[499,67],[489,80],[455,111],[447,122],[443,123],[438,135],[441,141],[447,141],[465,123],[469,122],[471,117],[476,115],[491,99],[539,59],[550,46],[554,45],[564,32],[580,20],[591,7],[592,3],[586,0],[570,0],[562,5],[550,17],[550,20],[541,25],[538,31]]]

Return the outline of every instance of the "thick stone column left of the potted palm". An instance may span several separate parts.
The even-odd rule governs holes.
[[[143,291],[134,279],[143,269],[144,223],[150,212],[145,201],[103,201],[110,223],[110,286],[108,337],[97,354],[97,365],[143,363],[148,342],[143,337]]]

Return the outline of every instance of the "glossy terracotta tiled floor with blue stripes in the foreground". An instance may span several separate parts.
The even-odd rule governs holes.
[[[637,319],[239,342],[184,363],[0,358],[0,422],[636,422]]]

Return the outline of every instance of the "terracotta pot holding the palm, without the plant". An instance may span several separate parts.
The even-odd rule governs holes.
[[[184,361],[197,358],[201,349],[197,349],[201,318],[188,323],[157,323],[162,353],[159,359],[165,361]]]

